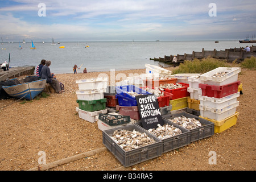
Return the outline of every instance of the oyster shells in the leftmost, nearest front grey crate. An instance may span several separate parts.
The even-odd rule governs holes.
[[[125,151],[155,143],[154,138],[150,138],[146,133],[140,133],[135,129],[133,131],[115,130],[111,138]]]

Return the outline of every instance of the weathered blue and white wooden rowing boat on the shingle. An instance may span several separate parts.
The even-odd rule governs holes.
[[[11,79],[15,80],[17,78]],[[46,79],[25,82],[22,84],[12,86],[2,86],[9,96],[14,98],[24,98],[26,100],[33,100],[39,93],[43,91],[46,86]]]

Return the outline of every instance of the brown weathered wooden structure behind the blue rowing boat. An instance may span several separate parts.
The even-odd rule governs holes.
[[[34,75],[34,66],[24,66],[24,67],[14,67],[9,68],[8,71],[3,71],[0,69],[0,81],[5,81],[7,78],[16,78],[23,75]]]

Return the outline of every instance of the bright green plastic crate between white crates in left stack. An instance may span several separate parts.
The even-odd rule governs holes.
[[[85,111],[93,112],[106,109],[106,98],[93,101],[76,100],[76,102],[79,104],[79,109]]]

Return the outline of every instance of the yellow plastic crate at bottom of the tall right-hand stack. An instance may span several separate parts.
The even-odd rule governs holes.
[[[210,122],[213,122],[214,123],[214,133],[221,133],[222,131],[225,131],[226,129],[229,129],[230,127],[236,125],[238,115],[239,115],[239,113],[236,112],[236,114],[234,114],[226,119],[223,119],[221,121],[204,118],[204,117],[201,117],[201,115],[199,117],[203,118],[203,119],[207,119]]]

